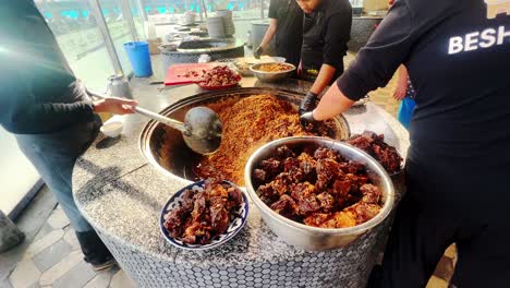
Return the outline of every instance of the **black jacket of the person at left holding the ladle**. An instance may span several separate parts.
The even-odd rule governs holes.
[[[0,19],[0,124],[37,134],[92,121],[92,101],[34,2],[2,4]]]

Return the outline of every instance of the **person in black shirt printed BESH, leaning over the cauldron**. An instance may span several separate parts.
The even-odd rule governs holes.
[[[341,113],[385,86],[400,64],[409,69],[417,94],[408,193],[385,252],[384,287],[424,287],[453,242],[453,285],[510,284],[509,5],[396,1],[337,85],[302,116]]]

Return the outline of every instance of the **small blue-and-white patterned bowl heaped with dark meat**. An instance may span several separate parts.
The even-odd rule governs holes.
[[[207,179],[173,194],[159,218],[167,241],[184,250],[207,250],[232,239],[248,214],[245,193],[229,181]]]

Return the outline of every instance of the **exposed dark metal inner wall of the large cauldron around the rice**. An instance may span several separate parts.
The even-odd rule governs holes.
[[[272,94],[280,99],[290,101],[296,107],[303,97],[302,94],[271,88],[235,88],[222,92],[207,92],[187,97],[167,107],[160,113],[172,119],[183,120],[184,115],[193,107],[231,98],[243,98],[252,95]],[[335,139],[343,140],[350,135],[347,120],[339,116],[335,118],[337,135]],[[171,129],[156,121],[149,121],[142,131],[139,147],[144,157],[159,171],[190,181],[198,180],[193,172],[202,155],[192,152],[182,137],[180,131]]]

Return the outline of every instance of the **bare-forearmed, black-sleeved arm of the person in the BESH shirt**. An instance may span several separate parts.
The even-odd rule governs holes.
[[[397,1],[349,69],[324,95],[313,111],[314,120],[342,113],[368,92],[385,86],[405,62],[416,35],[408,2]]]

